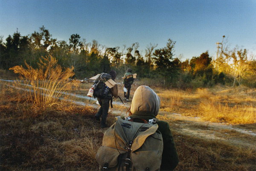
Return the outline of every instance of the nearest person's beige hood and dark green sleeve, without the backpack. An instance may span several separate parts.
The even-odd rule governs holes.
[[[131,102],[131,118],[141,118],[146,121],[156,118],[160,108],[160,98],[146,85],[140,85],[134,92]],[[178,154],[175,142],[169,127],[165,121],[157,121],[158,130],[163,137],[163,154],[160,170],[173,170],[178,162]]]

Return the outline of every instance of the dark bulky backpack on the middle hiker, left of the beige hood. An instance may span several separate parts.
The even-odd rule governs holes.
[[[99,98],[107,98],[110,93],[110,88],[105,84],[107,80],[111,79],[110,74],[102,73],[99,75],[99,77],[96,79],[93,87],[93,97],[99,97]],[[109,96],[110,97],[110,96]]]

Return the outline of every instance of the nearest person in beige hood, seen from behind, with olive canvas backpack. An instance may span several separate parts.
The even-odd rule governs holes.
[[[172,171],[179,159],[169,124],[157,120],[160,98],[148,86],[134,92],[129,117],[117,117],[96,154],[99,170]],[[136,121],[137,120],[137,121]],[[140,121],[144,123],[138,123]],[[134,134],[135,132],[135,134]]]

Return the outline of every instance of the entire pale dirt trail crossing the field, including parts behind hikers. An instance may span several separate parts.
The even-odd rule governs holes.
[[[6,80],[5,80],[6,81]],[[12,86],[12,85],[9,85]],[[12,86],[13,87],[13,86]],[[17,88],[17,87],[14,87]],[[27,91],[27,90],[25,90]],[[71,96],[83,99],[85,102],[73,101],[73,103],[79,105],[90,105],[94,108],[99,108],[96,103],[97,100],[89,97],[70,94]],[[121,103],[119,99],[113,100],[114,108],[110,108],[109,113],[117,116],[125,116],[126,110],[130,107],[131,102],[125,105]],[[204,121],[199,117],[187,117],[182,114],[169,113],[166,111],[160,111],[158,115],[170,123],[170,128],[179,134],[195,136],[206,140],[224,141],[233,145],[245,146],[247,148],[256,148],[256,130],[241,128],[238,125],[227,125],[225,123],[212,123]]]

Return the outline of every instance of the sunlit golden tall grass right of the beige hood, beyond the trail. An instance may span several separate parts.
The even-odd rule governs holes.
[[[216,86],[196,91],[157,91],[162,111],[197,116],[212,122],[256,123],[256,89]]]

